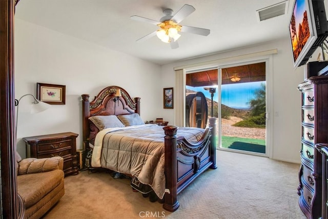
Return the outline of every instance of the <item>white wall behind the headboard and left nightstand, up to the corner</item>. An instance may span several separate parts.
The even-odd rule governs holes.
[[[81,94],[98,92],[112,85],[125,88],[131,97],[141,97],[141,117],[161,116],[160,66],[109,50],[80,39],[15,19],[15,97],[36,95],[36,83],[66,85],[66,105],[52,105],[30,114],[32,97],[19,103],[17,151],[25,157],[22,137],[75,132],[82,148]],[[159,108],[160,109],[160,108]]]

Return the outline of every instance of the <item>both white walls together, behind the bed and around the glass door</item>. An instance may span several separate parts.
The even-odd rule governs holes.
[[[174,123],[174,110],[163,109],[162,89],[175,87],[174,67],[278,49],[273,55],[273,153],[276,160],[299,163],[301,138],[301,95],[303,67],[294,70],[288,39],[252,46],[188,61],[158,66],[139,58],[109,50],[25,21],[15,19],[15,96],[36,94],[36,83],[66,85],[66,105],[30,114],[31,99],[22,99],[19,108],[17,151],[25,155],[24,136],[72,131],[79,134],[81,148],[81,94],[91,96],[118,85],[132,97],[141,97],[141,117],[163,117]],[[225,63],[219,63],[221,65]],[[123,79],[122,79],[123,78]],[[158,98],[158,97],[161,98]],[[271,113],[273,113],[271,112]]]

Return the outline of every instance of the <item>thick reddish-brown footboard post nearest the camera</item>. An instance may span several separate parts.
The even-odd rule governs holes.
[[[166,189],[163,208],[173,212],[179,208],[177,201],[177,148],[176,148],[176,131],[175,126],[163,127],[165,132],[165,180]]]

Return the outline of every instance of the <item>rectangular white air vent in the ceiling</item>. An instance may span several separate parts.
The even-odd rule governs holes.
[[[259,9],[256,12],[258,14],[259,21],[264,21],[266,19],[285,14],[287,12],[287,9],[288,1],[283,1],[281,3]]]

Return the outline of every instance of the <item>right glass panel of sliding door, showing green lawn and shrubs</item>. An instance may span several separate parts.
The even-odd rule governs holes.
[[[265,154],[265,62],[221,68],[220,72],[220,149]]]

